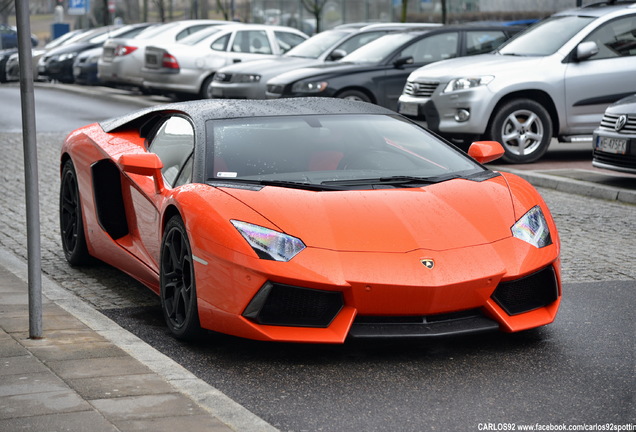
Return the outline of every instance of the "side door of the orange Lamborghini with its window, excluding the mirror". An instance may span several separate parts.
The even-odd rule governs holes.
[[[163,164],[164,189],[158,192],[154,181],[148,178],[130,184],[128,189],[133,214],[129,215],[128,222],[133,242],[131,253],[158,271],[163,234],[160,210],[173,188],[191,181],[194,128],[180,115],[162,119],[155,128],[147,147]]]

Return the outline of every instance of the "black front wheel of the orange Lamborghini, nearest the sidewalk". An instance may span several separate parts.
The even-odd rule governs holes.
[[[161,309],[168,329],[178,339],[193,339],[201,331],[194,265],[179,216],[173,216],[164,230],[160,266]]]

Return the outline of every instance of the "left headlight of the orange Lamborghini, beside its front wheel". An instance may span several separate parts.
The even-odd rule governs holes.
[[[305,244],[296,237],[247,222],[230,222],[252,246],[259,258],[289,261],[305,249]]]

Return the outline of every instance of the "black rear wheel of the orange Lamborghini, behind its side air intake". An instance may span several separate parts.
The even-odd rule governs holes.
[[[84,232],[82,206],[77,186],[77,173],[70,159],[64,163],[62,168],[60,233],[64,256],[69,264],[72,266],[88,264],[91,261],[91,257],[86,247],[86,234]]]

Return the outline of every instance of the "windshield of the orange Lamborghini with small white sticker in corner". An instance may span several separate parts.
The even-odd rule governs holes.
[[[311,115],[210,120],[211,183],[417,187],[490,173],[398,116]]]

